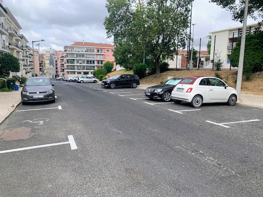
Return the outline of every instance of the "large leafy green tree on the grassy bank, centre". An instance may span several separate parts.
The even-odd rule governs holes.
[[[173,59],[176,48],[185,47],[191,0],[107,0],[108,37],[113,37],[116,63],[135,64],[153,59]]]

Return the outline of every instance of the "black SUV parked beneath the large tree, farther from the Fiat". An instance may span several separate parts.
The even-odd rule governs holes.
[[[119,74],[111,79],[105,79],[101,82],[102,87],[132,87],[136,88],[140,85],[140,78],[134,74]]]

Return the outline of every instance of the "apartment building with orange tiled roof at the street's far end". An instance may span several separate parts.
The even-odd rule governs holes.
[[[93,71],[102,68],[107,61],[113,62],[114,46],[112,44],[75,42],[72,45],[64,46],[65,56],[60,58],[64,61],[65,76],[78,76],[93,74]]]

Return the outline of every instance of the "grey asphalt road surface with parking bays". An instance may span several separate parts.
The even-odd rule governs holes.
[[[55,103],[20,104],[0,125],[31,128],[0,151],[47,145],[0,152],[0,197],[263,196],[263,109],[53,82]]]

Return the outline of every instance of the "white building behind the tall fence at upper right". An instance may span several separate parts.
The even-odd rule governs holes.
[[[253,33],[255,28],[259,27],[258,24],[247,25],[246,34]],[[242,36],[242,26],[237,28],[229,28],[225,30],[211,32],[211,53],[210,60],[214,60],[214,47],[215,47],[215,60],[220,59],[223,61],[223,68],[230,68],[229,56],[231,55],[232,46],[236,45],[237,39]],[[212,64],[210,64],[212,66]]]

